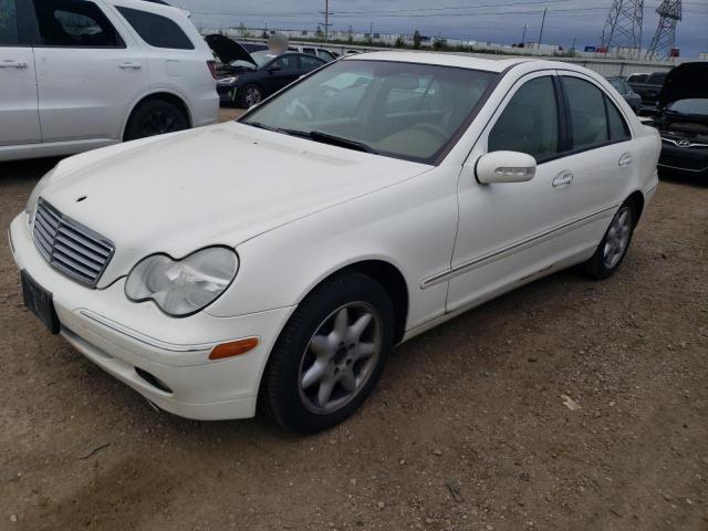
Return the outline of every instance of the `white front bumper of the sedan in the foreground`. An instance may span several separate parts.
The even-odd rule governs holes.
[[[93,290],[52,269],[34,247],[25,214],[12,221],[10,240],[18,268],[52,293],[61,334],[91,361],[176,415],[204,420],[253,416],[268,356],[294,306],[233,317],[199,312],[174,319],[152,302],[128,301],[124,278]],[[253,351],[209,361],[216,345],[249,336],[260,337]]]

